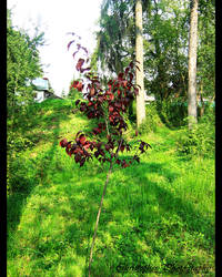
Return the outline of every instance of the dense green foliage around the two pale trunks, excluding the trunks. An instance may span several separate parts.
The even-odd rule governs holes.
[[[134,2],[130,0],[103,1],[93,57],[99,59],[101,69],[114,72],[134,57],[133,10]],[[210,101],[214,98],[214,1],[200,1],[196,94],[202,106],[204,98]],[[160,103],[183,103],[188,99],[189,30],[190,1],[143,1],[144,85],[147,94],[154,94]],[[186,115],[183,113],[183,119]]]

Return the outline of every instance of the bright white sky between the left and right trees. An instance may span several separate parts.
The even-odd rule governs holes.
[[[38,27],[44,32],[46,45],[39,48],[44,76],[49,79],[57,95],[69,92],[75,62],[73,51],[68,51],[74,32],[81,37],[81,44],[92,53],[95,47],[93,32],[99,30],[98,20],[102,0],[8,0],[12,11],[12,24],[24,29],[30,35]],[[72,50],[72,49],[70,49]],[[75,73],[77,74],[77,73]]]

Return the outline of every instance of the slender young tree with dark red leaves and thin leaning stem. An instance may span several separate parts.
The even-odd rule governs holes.
[[[74,33],[72,33],[75,35]],[[72,40],[68,44],[68,50],[75,40]],[[88,57],[88,50],[80,43],[77,43],[77,50],[73,52],[73,58],[80,51],[83,51]],[[83,166],[85,162],[90,160],[98,160],[100,163],[109,163],[109,171],[107,174],[107,181],[104,183],[103,193],[98,211],[94,234],[92,238],[92,245],[90,249],[89,258],[89,276],[91,274],[91,263],[93,255],[93,246],[97,237],[97,229],[99,225],[100,214],[102,209],[103,198],[105,195],[107,186],[109,183],[110,174],[112,173],[113,165],[117,164],[122,168],[133,165],[134,162],[140,163],[140,154],[144,153],[150,144],[137,140],[133,143],[127,142],[124,138],[124,132],[128,130],[124,115],[139,93],[139,88],[134,84],[134,69],[138,68],[135,62],[130,62],[124,72],[118,74],[117,79],[111,79],[107,86],[102,86],[102,82],[98,75],[95,75],[90,66],[89,58],[80,58],[77,62],[75,69],[83,73],[85,81],[73,81],[71,88],[77,89],[83,93],[84,100],[77,100],[75,106],[82,112],[89,120],[97,119],[97,127],[87,135],[82,131],[79,131],[73,141],[63,138],[60,142],[61,147],[65,148],[67,154],[71,157],[74,156],[75,163]],[[138,68],[139,69],[139,68]],[[135,131],[135,135],[138,132]],[[89,137],[92,137],[90,140]],[[120,156],[120,153],[130,152],[137,148],[134,155],[129,157]]]

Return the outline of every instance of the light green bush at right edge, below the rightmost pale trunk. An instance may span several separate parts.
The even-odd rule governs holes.
[[[180,154],[214,156],[215,120],[212,112],[206,113],[192,130],[181,129],[176,145]]]

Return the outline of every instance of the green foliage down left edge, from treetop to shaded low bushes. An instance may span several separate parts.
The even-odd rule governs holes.
[[[41,76],[42,68],[39,47],[43,43],[43,33],[33,38],[24,30],[18,30],[12,24],[11,12],[7,10],[7,166],[8,191],[17,189],[18,156],[26,148],[32,147],[36,138],[23,134],[24,123],[21,114],[29,117],[30,104],[33,103],[33,85],[31,80]],[[20,116],[19,116],[20,115]],[[21,177],[21,176],[20,176]],[[21,177],[24,179],[26,177]],[[26,184],[24,184],[26,186]]]

